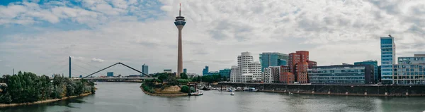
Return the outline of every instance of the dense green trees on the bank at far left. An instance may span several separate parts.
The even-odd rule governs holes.
[[[71,80],[55,75],[53,79],[46,75],[22,73],[3,75],[1,81],[0,107],[41,104],[74,97],[94,94],[94,82]]]

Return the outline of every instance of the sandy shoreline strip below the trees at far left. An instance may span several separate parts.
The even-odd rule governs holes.
[[[11,106],[24,106],[24,105],[33,105],[33,104],[44,104],[44,103],[50,103],[50,102],[54,102],[54,101],[61,101],[61,100],[64,100],[64,99],[72,99],[72,98],[76,98],[76,97],[85,97],[85,96],[89,96],[90,94],[92,94],[92,93],[89,92],[89,93],[85,93],[85,94],[80,94],[78,96],[63,97],[62,99],[47,99],[47,100],[44,100],[44,101],[35,101],[35,102],[32,102],[32,103],[0,104],[0,108],[11,107]]]

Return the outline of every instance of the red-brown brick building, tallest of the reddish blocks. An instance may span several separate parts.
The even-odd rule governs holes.
[[[308,82],[307,69],[316,65],[316,62],[309,61],[308,51],[296,51],[289,54],[288,66],[290,73],[295,75],[295,81],[300,84]]]

